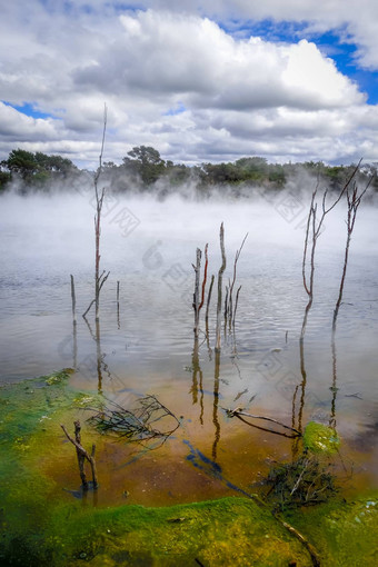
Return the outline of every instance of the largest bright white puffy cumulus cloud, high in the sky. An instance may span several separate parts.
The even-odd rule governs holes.
[[[78,87],[118,94],[180,94],[189,106],[252,109],[339,107],[364,97],[314,43],[235,40],[207,18],[168,12],[121,16],[109,52],[74,71]],[[153,96],[152,94],[152,96]]]

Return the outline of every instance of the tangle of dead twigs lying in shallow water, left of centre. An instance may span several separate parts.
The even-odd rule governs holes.
[[[107,406],[96,410],[89,422],[102,432],[115,432],[129,442],[145,444],[151,439],[161,440],[162,445],[179,427],[177,417],[155,396],[146,396],[137,400],[132,410],[126,409],[116,401],[107,400]],[[156,424],[161,420],[173,420],[173,427],[161,431]]]

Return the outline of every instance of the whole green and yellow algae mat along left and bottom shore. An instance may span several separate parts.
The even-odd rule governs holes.
[[[68,499],[53,467],[44,464],[63,454],[74,466],[74,449],[59,424],[82,417],[82,399],[68,371],[0,390],[0,565],[312,565],[305,546],[253,499],[163,508],[100,508],[96,493]],[[87,440],[99,442],[100,450],[97,434]],[[372,566],[377,511],[370,497],[297,511],[289,521],[317,547],[321,565]]]

